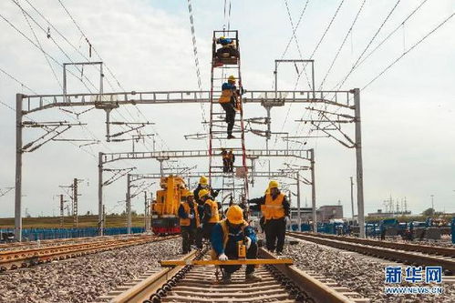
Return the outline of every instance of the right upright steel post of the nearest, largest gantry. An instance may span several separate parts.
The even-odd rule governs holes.
[[[364,187],[362,165],[362,133],[360,127],[360,89],[354,88],[354,106],[356,120],[356,162],[357,162],[357,217],[360,227],[359,237],[365,237]]]

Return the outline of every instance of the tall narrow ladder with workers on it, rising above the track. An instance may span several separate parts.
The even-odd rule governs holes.
[[[230,87],[236,85],[235,89],[222,89],[226,88],[226,84],[229,84]],[[248,199],[248,167],[246,165],[242,93],[243,86],[238,31],[213,31],[209,178],[212,182],[212,173],[218,173],[222,170],[222,187],[226,187],[223,189],[232,195],[241,190],[243,192],[243,199],[246,201]],[[221,98],[226,105],[221,105]],[[231,123],[231,127],[229,127],[229,123]],[[225,171],[224,165],[218,165],[222,160],[223,149],[232,150],[234,155],[241,156],[242,165],[236,166],[233,164],[233,171]],[[238,184],[241,182],[235,183],[235,177],[243,178],[242,186]],[[238,188],[235,186],[238,186]]]

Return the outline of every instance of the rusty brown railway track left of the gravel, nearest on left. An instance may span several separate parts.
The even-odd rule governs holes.
[[[0,251],[0,271],[16,268],[26,268],[36,264],[76,258],[79,256],[97,253],[119,247],[140,245],[150,241],[161,241],[172,237],[137,236],[99,239],[96,241],[82,242],[76,244],[65,244],[48,247],[26,248],[20,250]]]

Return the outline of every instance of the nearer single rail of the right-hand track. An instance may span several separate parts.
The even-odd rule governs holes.
[[[335,240],[324,237],[318,237],[315,234],[309,236],[298,232],[297,233],[288,232],[288,235],[291,237],[300,238],[306,241],[311,241],[330,247],[356,251],[364,255],[375,256],[378,258],[386,258],[408,264],[441,266],[444,270],[449,270],[452,273],[455,272],[455,260],[451,258],[439,258],[436,256],[423,255],[419,252],[398,250],[398,248],[372,247],[366,244],[346,242],[343,241],[342,239]]]

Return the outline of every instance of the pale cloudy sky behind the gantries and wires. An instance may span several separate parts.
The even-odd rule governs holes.
[[[61,94],[63,63],[86,62],[87,58],[103,61],[105,92],[199,89],[187,1],[62,0],[62,3],[83,35],[58,0],[0,2],[0,68],[17,80],[0,72],[2,192],[15,185],[16,94]],[[348,75],[339,89],[361,89],[365,212],[384,209],[384,200],[392,197],[399,204],[406,198],[408,209],[419,213],[431,206],[431,195],[437,210],[455,212],[455,96],[452,90],[455,80],[455,17],[429,34],[453,15],[455,1],[366,0],[354,25],[363,0],[227,0],[226,9],[224,3],[221,0],[191,2],[203,90],[210,89],[212,31],[222,29],[223,25],[227,27],[229,24],[231,29],[239,30],[242,81],[246,90],[274,89],[275,59],[308,59],[315,53],[312,58],[315,59],[316,88],[336,89]],[[415,14],[407,19],[417,7]],[[326,31],[332,18],[333,22]],[[299,19],[298,27],[293,30]],[[397,31],[388,37],[395,29]],[[85,37],[92,45],[91,57]],[[386,37],[386,42],[381,44]],[[52,58],[45,56],[39,45]],[[286,45],[289,45],[287,49]],[[300,73],[303,66],[297,68]],[[99,74],[95,67],[86,66],[83,73],[73,68],[72,72],[76,76],[68,75],[68,93],[88,93],[88,88],[92,91],[98,89]],[[279,66],[278,77],[278,89],[309,89],[305,76],[297,81],[293,65]],[[321,135],[312,132],[308,124],[295,122],[315,118],[314,114],[310,116],[305,106],[274,107],[272,130],[287,132],[290,136]],[[80,113],[88,108],[67,109]],[[208,105],[120,106],[119,110],[113,111],[111,120],[154,123],[146,126],[142,134],[157,133],[157,150],[205,149],[206,141],[184,138],[184,135],[204,131],[202,109],[207,116]],[[244,112],[245,117],[265,116],[264,108],[258,105],[245,105]],[[36,121],[78,122],[76,115],[58,108],[26,117]],[[131,142],[105,142],[103,111],[90,110],[78,118],[86,125],[73,126],[60,137],[102,142],[80,146],[81,142],[51,141],[34,152],[25,153],[24,214],[27,211],[32,216],[57,215],[57,195],[65,194],[65,189],[59,186],[70,185],[75,177],[84,179],[79,185],[79,213],[97,213],[98,152],[130,151]],[[117,127],[113,132],[121,131],[119,126],[113,127]],[[343,127],[348,136],[354,136],[353,125]],[[43,134],[41,129],[26,128],[24,142]],[[150,139],[144,144],[138,143],[135,148],[146,151],[151,150],[152,145]],[[286,148],[278,136],[273,136],[269,145],[271,148]],[[247,134],[246,146],[265,148],[264,137]],[[350,217],[350,177],[356,181],[355,150],[326,137],[308,139],[305,146],[291,143],[289,147],[315,148],[316,206],[339,201],[345,207],[345,216]],[[284,162],[307,164],[295,159],[275,158],[271,161],[272,170],[284,168]],[[178,162],[164,165],[197,166],[194,170],[202,171],[207,169],[208,160],[181,158]],[[264,159],[256,163],[257,170],[265,171],[267,166]],[[154,160],[119,161],[109,167],[137,167],[135,173],[157,173],[160,169]],[[303,175],[309,176],[307,172]],[[108,172],[105,176],[110,177]],[[284,184],[290,182],[286,178],[280,180]],[[267,181],[256,180],[250,196],[262,195]],[[213,182],[219,186],[221,181]],[[157,189],[157,184],[147,187],[149,191]],[[291,190],[295,192],[295,186],[291,186]],[[125,177],[105,188],[108,212],[121,212],[125,208],[125,192]],[[310,187],[302,185],[301,194],[302,206],[305,206],[305,201],[310,205]],[[294,195],[292,201],[295,205]],[[133,198],[132,203],[134,210],[143,212],[142,195]],[[14,190],[0,197],[0,205],[0,217],[14,216]]]

